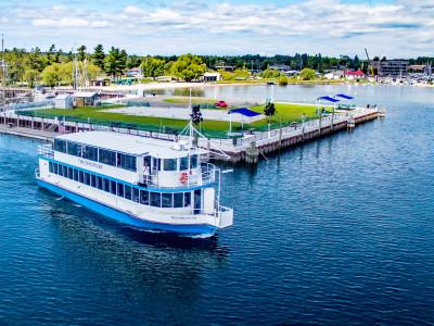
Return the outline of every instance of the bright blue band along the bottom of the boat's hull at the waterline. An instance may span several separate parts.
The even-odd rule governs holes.
[[[60,196],[64,196],[72,201],[75,201],[97,213],[100,213],[104,216],[107,216],[112,220],[116,220],[124,224],[132,225],[138,228],[145,228],[145,229],[158,229],[158,230],[167,230],[174,233],[181,233],[181,234],[190,234],[190,235],[214,235],[216,231],[216,227],[210,225],[170,225],[170,224],[161,224],[161,223],[153,223],[143,220],[135,218],[126,213],[119,212],[115,209],[108,208],[104,204],[98,203],[93,200],[87,199],[82,196],[73,193],[68,190],[63,188],[56,187],[54,185],[48,184],[42,180],[37,180],[39,186],[49,189],[52,192],[55,192]]]

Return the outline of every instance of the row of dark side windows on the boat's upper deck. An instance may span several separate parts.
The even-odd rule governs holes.
[[[62,139],[54,139],[54,150],[124,170],[137,171],[136,156],[133,155],[123,154],[78,142],[65,141]]]

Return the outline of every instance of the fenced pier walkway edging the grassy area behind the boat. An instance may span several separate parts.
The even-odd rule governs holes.
[[[199,139],[197,146],[209,149],[212,153],[217,153],[221,150],[230,158],[229,160],[233,162],[246,161],[250,163],[256,163],[259,153],[264,155],[337,130],[346,128],[350,129],[357,124],[374,120],[378,116],[379,111],[376,109],[359,108],[350,112],[334,113],[334,115],[269,131],[254,131],[250,135],[244,134],[244,136],[240,138],[208,139],[210,141],[207,139]],[[175,140],[177,137],[176,135],[164,133],[126,129],[91,123],[60,121],[56,117],[44,118],[18,115],[14,111],[0,113],[0,133],[3,134],[51,141],[53,137],[60,134],[59,131],[78,133],[86,130],[111,130],[166,140]],[[218,156],[216,159],[218,159]]]

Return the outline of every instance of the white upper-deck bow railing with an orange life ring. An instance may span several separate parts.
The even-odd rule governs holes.
[[[139,183],[150,188],[162,188],[162,189],[177,189],[177,188],[190,188],[196,186],[204,186],[213,184],[216,180],[216,166],[210,163],[203,163],[201,165],[201,172],[194,171],[180,172],[181,177],[177,179],[177,185],[166,186],[159,178],[158,172],[152,173],[151,175],[140,174]]]

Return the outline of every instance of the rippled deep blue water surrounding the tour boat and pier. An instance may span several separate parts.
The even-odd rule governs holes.
[[[235,166],[210,239],[59,200],[38,142],[0,136],[0,324],[434,324],[434,90],[361,89],[385,120]]]

